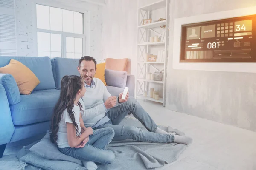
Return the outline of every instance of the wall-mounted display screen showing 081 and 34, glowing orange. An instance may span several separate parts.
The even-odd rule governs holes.
[[[256,62],[256,15],[182,26],[180,62]]]

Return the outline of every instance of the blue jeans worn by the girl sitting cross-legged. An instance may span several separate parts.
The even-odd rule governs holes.
[[[105,149],[105,146],[111,142],[115,132],[112,128],[102,128],[93,130],[93,135],[89,135],[89,141],[83,148],[58,148],[65,155],[82,161],[93,161],[98,164],[110,164],[115,155],[111,150]]]

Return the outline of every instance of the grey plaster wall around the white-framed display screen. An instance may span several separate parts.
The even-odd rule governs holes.
[[[175,18],[250,6],[256,0],[171,0],[166,108],[256,132],[256,73],[172,69]]]

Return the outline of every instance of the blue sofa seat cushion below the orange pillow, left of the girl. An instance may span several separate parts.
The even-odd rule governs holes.
[[[28,125],[50,120],[59,95],[60,91],[55,89],[20,95],[21,101],[10,106],[13,124]]]

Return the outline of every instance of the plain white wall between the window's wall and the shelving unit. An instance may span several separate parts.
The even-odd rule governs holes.
[[[137,49],[137,0],[105,0],[102,23],[104,58],[130,58],[135,74]]]

